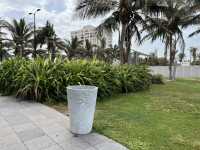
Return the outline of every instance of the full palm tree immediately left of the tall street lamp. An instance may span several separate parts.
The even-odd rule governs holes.
[[[11,34],[11,39],[7,40],[12,43],[15,55],[25,56],[26,48],[32,42],[32,25],[27,24],[24,19],[14,19],[12,23],[4,21],[2,26]]]

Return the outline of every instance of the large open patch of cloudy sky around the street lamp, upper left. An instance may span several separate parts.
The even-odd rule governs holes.
[[[37,8],[41,8],[41,12],[37,13],[37,26],[42,26],[49,20],[55,25],[56,32],[59,36],[70,38],[70,32],[78,30],[84,25],[98,25],[102,19],[80,20],[75,17],[75,1],[74,0],[0,0],[0,14],[5,19],[25,18],[28,22],[32,22],[32,16],[29,12],[33,12]]]

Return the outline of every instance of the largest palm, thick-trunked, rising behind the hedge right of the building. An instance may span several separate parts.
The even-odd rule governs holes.
[[[113,12],[103,27],[119,29],[121,63],[127,63],[133,35],[137,35],[137,38],[140,39],[138,26],[144,23],[143,12],[158,13],[162,9],[157,5],[158,2],[159,0],[81,0],[77,11],[84,19]]]

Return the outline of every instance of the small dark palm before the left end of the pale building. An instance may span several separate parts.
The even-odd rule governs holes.
[[[68,56],[69,59],[72,59],[73,57],[76,57],[77,54],[79,55],[81,53],[82,48],[82,41],[79,41],[77,37],[74,37],[69,40],[65,40],[65,53]]]

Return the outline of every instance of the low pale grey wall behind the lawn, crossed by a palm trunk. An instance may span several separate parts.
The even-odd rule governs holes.
[[[164,77],[169,77],[168,66],[151,66],[153,74],[161,74]],[[200,66],[177,66],[177,78],[198,78],[200,77]]]

